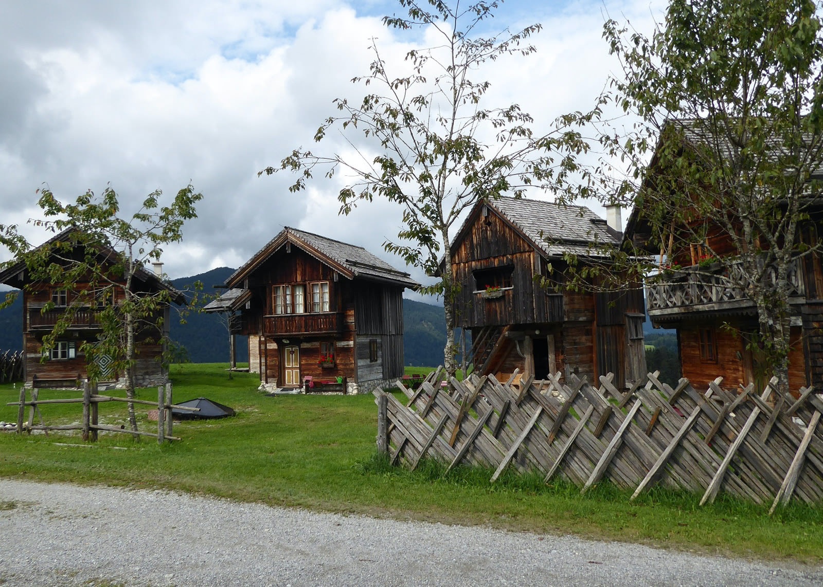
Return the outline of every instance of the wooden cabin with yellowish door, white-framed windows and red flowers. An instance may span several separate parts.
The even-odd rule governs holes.
[[[403,375],[402,293],[419,287],[363,247],[286,227],[208,312],[239,312],[268,388],[367,393]]]

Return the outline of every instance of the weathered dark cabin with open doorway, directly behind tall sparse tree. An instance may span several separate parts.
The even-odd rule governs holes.
[[[498,379],[515,369],[537,379],[574,372],[593,383],[612,372],[618,388],[644,377],[643,289],[564,286],[564,255],[593,261],[598,244],[620,243],[618,229],[583,206],[478,203],[452,246],[455,322],[471,331],[475,370]]]

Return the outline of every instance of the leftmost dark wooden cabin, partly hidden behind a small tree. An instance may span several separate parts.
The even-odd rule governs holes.
[[[63,230],[53,238],[40,245],[40,248],[54,247],[56,243],[67,243],[72,240],[72,233],[77,229]],[[67,253],[61,252],[61,256]],[[82,256],[80,247],[75,247],[73,255]],[[117,253],[112,249],[103,249],[98,252],[101,258],[113,260]],[[56,257],[52,262],[60,263]],[[104,261],[105,262],[105,261]],[[159,265],[159,264],[158,264]],[[116,278],[109,277],[116,281]],[[35,283],[30,279],[29,270],[24,262],[17,262],[0,271],[0,283],[21,289],[23,298],[23,349],[26,353],[26,385],[36,387],[75,387],[87,376],[86,357],[81,350],[86,341],[96,340],[100,332],[100,309],[102,304],[119,303],[122,291],[112,288],[105,295],[100,296],[104,286],[77,282],[68,288],[60,283]],[[125,284],[125,281],[120,281]],[[138,270],[133,280],[133,288],[138,292],[154,294],[159,290],[166,290],[174,303],[186,303],[185,297],[171,284],[163,280],[155,272]],[[53,308],[44,310],[49,302]],[[60,335],[54,348],[44,358],[43,337],[54,330],[60,317],[65,312],[75,312],[71,326]],[[159,326],[144,325],[137,333],[137,357],[134,369],[135,384],[138,387],[156,386],[168,381],[168,371],[160,361],[165,350],[165,340],[168,336],[170,307],[165,306],[157,314]],[[160,318],[162,320],[160,321]],[[118,384],[123,373],[107,369],[109,361],[102,357],[100,366],[105,373],[101,384]]]

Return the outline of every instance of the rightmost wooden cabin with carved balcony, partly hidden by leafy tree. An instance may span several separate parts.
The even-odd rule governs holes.
[[[694,131],[686,131],[687,142],[699,141]],[[658,173],[656,159],[653,157],[644,180],[646,186]],[[820,175],[823,178],[823,168]],[[823,202],[810,211],[799,233],[803,243],[815,247],[820,243]],[[667,221],[663,224],[669,225]],[[677,330],[682,376],[695,387],[706,387],[718,376],[723,377],[723,386],[728,389],[739,390],[740,385],[749,383],[762,387],[769,377],[758,367],[756,354],[746,348],[751,347],[750,335],[759,330],[755,303],[723,279],[724,271],[742,266],[727,260],[711,262],[714,257],[737,255],[732,237],[720,224],[700,215],[691,217],[680,229],[672,220],[666,233],[653,232],[642,207],[636,207],[626,225],[625,238],[636,249],[658,258],[657,278],[646,291],[649,318],[655,328]],[[700,233],[699,242],[695,241],[695,233]],[[821,261],[819,251],[803,255],[793,261],[789,273],[788,385],[795,392],[809,385],[823,389]]]

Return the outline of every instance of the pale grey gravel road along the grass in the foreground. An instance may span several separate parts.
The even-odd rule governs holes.
[[[821,585],[635,544],[0,479],[0,585]]]

